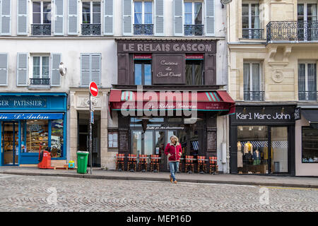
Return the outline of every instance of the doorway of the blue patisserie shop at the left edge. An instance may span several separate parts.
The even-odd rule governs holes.
[[[18,122],[4,121],[1,130],[2,165],[18,165]]]

